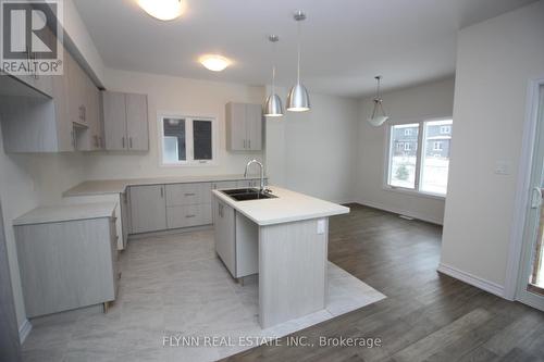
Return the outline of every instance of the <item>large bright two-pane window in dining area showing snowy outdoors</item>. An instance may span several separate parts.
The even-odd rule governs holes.
[[[452,126],[452,120],[392,125],[387,186],[445,196]],[[411,136],[409,141],[406,139],[408,129]],[[404,148],[398,146],[399,139],[403,139]]]

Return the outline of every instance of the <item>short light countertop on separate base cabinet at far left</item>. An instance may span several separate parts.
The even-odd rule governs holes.
[[[111,217],[115,202],[96,202],[39,207],[13,221],[13,225],[58,223],[74,220]]]

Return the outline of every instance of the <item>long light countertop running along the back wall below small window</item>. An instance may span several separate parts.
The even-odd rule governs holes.
[[[248,176],[247,179],[256,179],[257,176]],[[165,185],[188,183],[215,183],[222,180],[244,179],[244,175],[209,175],[209,176],[180,176],[180,177],[153,177],[153,178],[126,178],[126,179],[97,179],[81,183],[63,194],[70,196],[94,196],[108,194],[122,194],[128,186],[138,185]]]

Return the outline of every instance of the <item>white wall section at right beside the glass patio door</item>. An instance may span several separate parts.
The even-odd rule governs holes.
[[[442,263],[502,288],[529,79],[544,77],[544,2],[459,32]],[[511,164],[494,174],[496,161]]]

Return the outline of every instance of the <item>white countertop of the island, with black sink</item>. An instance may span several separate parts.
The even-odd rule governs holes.
[[[349,213],[349,208],[307,195],[269,186],[275,199],[236,201],[220,190],[213,195],[258,225],[273,225]]]

